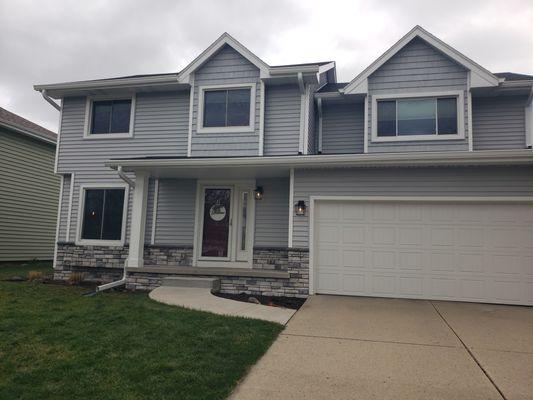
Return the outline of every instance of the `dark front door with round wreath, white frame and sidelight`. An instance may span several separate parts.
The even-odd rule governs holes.
[[[251,266],[254,187],[252,183],[199,184],[195,265]]]

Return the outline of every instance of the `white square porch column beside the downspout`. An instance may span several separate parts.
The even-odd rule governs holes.
[[[133,189],[131,206],[130,248],[126,265],[142,267],[144,265],[144,228],[148,203],[148,173],[137,172]]]

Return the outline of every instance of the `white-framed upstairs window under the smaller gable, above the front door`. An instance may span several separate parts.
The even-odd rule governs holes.
[[[200,87],[199,132],[244,132],[253,130],[254,85]]]

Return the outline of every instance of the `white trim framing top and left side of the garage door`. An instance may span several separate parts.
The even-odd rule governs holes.
[[[309,196],[309,294],[315,294],[315,207],[319,201],[533,203],[533,196]]]

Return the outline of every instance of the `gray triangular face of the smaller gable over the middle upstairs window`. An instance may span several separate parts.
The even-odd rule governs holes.
[[[211,58],[209,58],[198,70],[196,70],[198,80],[239,80],[257,78],[259,68],[243,57],[233,47],[226,44],[220,48]]]

